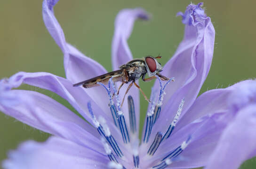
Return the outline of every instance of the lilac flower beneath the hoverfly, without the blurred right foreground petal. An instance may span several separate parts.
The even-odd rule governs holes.
[[[240,84],[211,90],[197,98],[210,69],[215,38],[211,20],[200,8],[202,4],[191,4],[184,14],[178,13],[185,24],[184,39],[162,71],[166,77],[175,77],[175,82],[156,80],[139,141],[139,92],[135,87],[120,108],[124,91],[112,98],[115,86],[120,83],[113,84],[110,80],[107,86],[86,90],[72,86],[104,74],[106,70],[65,41],[53,13],[56,3],[57,0],[43,1],[43,19],[64,53],[66,79],[45,72],[19,72],[0,81],[0,110],[53,136],[45,143],[21,144],[8,154],[3,167],[164,169],[205,166],[226,126],[223,121],[228,112],[226,100]],[[132,60],[127,39],[136,19],[146,20],[148,14],[135,8],[121,10],[117,15],[112,41],[113,69]],[[10,90],[22,83],[57,93],[92,125],[39,92]]]

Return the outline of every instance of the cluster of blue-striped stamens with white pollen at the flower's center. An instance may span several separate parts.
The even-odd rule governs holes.
[[[168,80],[164,85],[162,84],[162,81],[160,80],[160,77],[158,77],[159,83],[160,83],[160,93],[157,99],[155,99],[155,93],[156,91],[152,92],[152,102],[149,111],[146,115],[146,123],[145,123],[145,130],[144,130],[144,137],[143,137],[143,143],[144,145],[149,144],[149,138],[151,136],[152,128],[154,124],[156,123],[160,112],[161,112],[161,105],[164,98],[164,90],[166,89],[166,86],[171,82],[174,81],[174,78],[171,78]],[[121,104],[120,104],[120,98],[117,94],[117,90],[115,88],[115,85],[112,81],[112,78],[109,80],[108,86],[104,85],[102,83],[98,83],[102,85],[108,96],[109,96],[109,107],[111,110],[113,123],[115,127],[117,127],[121,133],[123,143],[125,145],[128,145],[132,149],[132,158],[133,158],[133,167],[139,168],[139,138],[137,134],[137,126],[136,126],[136,114],[135,114],[135,106],[134,106],[134,100],[132,96],[128,96],[128,113],[129,113],[129,124],[130,124],[130,130],[128,130],[126,119],[124,117],[124,114],[121,110]],[[115,102],[113,101],[113,96],[115,97]],[[179,116],[181,114],[182,108],[184,105],[184,99],[181,100],[181,103],[178,107],[176,116],[174,117],[174,120],[169,125],[167,131],[163,135],[161,132],[157,132],[155,135],[154,140],[151,143],[151,146],[149,146],[147,150],[147,156],[149,158],[152,158],[152,156],[157,151],[160,144],[165,141],[167,138],[170,137],[172,131],[174,130],[176,123],[179,119]],[[91,104],[88,102],[88,111],[92,117],[93,123],[99,132],[100,136],[102,137],[102,144],[104,146],[105,152],[109,157],[109,160],[111,161],[109,163],[109,167],[113,169],[125,169],[123,164],[120,163],[120,161],[127,161],[129,163],[130,157],[126,157],[124,153],[121,151],[120,146],[118,145],[115,138],[112,136],[111,131],[106,123],[106,120],[103,117],[99,117],[98,119],[93,114]],[[180,161],[180,158],[178,158],[178,155],[183,152],[185,147],[189,144],[190,137],[184,141],[180,146],[176,147],[176,149],[169,152],[167,155],[164,155],[162,160],[159,160],[159,162],[153,162],[152,168],[153,169],[164,169],[168,165],[170,165],[173,161]],[[114,154],[112,153],[114,152]],[[115,155],[118,157],[116,158]],[[120,161],[119,161],[120,159]]]

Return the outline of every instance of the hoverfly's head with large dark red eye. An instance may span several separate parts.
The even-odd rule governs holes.
[[[145,67],[149,77],[155,76],[157,73],[163,70],[161,64],[156,60],[158,58],[161,58],[161,56],[157,56],[155,58],[152,56],[145,57]]]

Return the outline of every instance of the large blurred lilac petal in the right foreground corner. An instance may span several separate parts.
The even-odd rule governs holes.
[[[242,82],[229,97],[227,127],[210,156],[207,169],[238,169],[256,156],[256,81]]]

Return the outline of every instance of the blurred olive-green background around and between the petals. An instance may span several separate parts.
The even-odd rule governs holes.
[[[111,71],[113,23],[120,9],[142,7],[152,14],[150,21],[136,22],[128,44],[135,58],[161,54],[165,64],[184,34],[184,25],[176,13],[184,11],[189,3],[191,0],[60,0],[55,14],[67,41]],[[18,71],[44,71],[65,77],[63,54],[44,26],[41,4],[41,0],[1,0],[0,78]],[[212,66],[200,93],[256,77],[255,7],[253,0],[204,1],[216,29],[216,40]],[[147,96],[152,84],[140,83]],[[26,85],[21,88],[47,94],[74,111],[54,93]],[[143,122],[147,107],[143,97],[141,105]],[[0,161],[7,157],[9,149],[23,141],[44,141],[48,137],[49,134],[0,113]],[[241,166],[253,168],[256,159]]]

